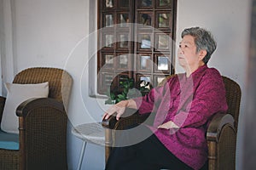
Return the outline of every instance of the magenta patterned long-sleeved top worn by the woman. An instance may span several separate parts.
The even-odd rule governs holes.
[[[204,165],[207,123],[216,112],[228,109],[224,82],[216,69],[203,65],[190,77],[178,74],[135,101],[140,114],[156,114],[150,128],[173,155],[194,169]],[[179,128],[157,128],[168,121]]]

